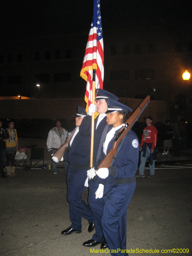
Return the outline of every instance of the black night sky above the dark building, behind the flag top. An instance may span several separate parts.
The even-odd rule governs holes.
[[[1,39],[87,30],[93,0],[6,0],[1,3]],[[103,33],[109,28],[191,23],[189,2],[177,0],[100,0]]]

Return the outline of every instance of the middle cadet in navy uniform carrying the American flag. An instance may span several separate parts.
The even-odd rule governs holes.
[[[118,100],[119,98],[114,94],[107,92],[103,89],[96,90],[96,108],[97,112],[100,114],[95,119],[94,126],[94,145],[93,145],[93,166],[96,164],[96,161],[100,158],[101,147],[104,139],[106,138],[109,125],[106,123],[106,114],[107,111],[107,99]],[[81,135],[91,135],[91,115],[92,112],[96,112],[95,105],[91,104],[88,111],[88,116],[86,116],[79,128]],[[111,126],[112,128],[112,126]],[[89,172],[89,171],[88,171]],[[91,172],[91,171],[90,171]],[[91,174],[90,174],[91,175]],[[88,185],[89,183],[89,185]],[[104,236],[101,230],[101,216],[102,209],[104,206],[103,198],[95,198],[95,192],[99,187],[98,177],[95,180],[89,180],[86,186],[89,186],[89,206],[92,209],[94,214],[95,222],[95,234],[92,236],[92,239],[83,243],[84,246],[92,247],[97,244],[101,244],[101,249],[107,248],[108,245],[104,241]]]

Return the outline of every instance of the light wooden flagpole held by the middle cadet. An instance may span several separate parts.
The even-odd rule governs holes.
[[[92,80],[92,104],[95,104],[95,69],[93,69],[93,80]],[[94,143],[94,122],[95,113],[92,113],[91,122],[91,155],[90,155],[90,167],[93,167],[93,143]]]

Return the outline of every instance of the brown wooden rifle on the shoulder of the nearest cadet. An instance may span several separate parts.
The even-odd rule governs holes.
[[[149,103],[149,100],[151,98],[151,95],[153,92],[156,91],[156,88],[153,88],[152,92],[141,102],[139,107],[136,108],[136,110],[132,113],[132,115],[129,117],[129,119],[123,124],[121,130],[119,130],[115,134],[115,138],[113,139],[113,146],[107,153],[107,155],[104,157],[100,165],[97,167],[97,170],[103,167],[109,168],[111,166],[112,160],[116,158],[117,154],[117,146],[120,143],[120,141],[125,137],[125,135],[129,132],[129,130],[132,128],[132,126],[135,124],[135,122],[140,117],[143,110],[147,107],[147,104]],[[97,172],[96,170],[96,172]],[[96,177],[96,176],[95,176]],[[94,178],[93,178],[94,179]]]

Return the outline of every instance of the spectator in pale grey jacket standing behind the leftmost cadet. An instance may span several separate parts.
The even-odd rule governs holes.
[[[67,133],[64,128],[61,127],[62,123],[60,120],[57,120],[56,127],[52,128],[49,131],[48,138],[47,138],[47,150],[51,151],[51,155],[54,154],[57,149],[60,148],[63,143],[65,143],[67,138]],[[67,171],[67,163],[63,162],[63,165]],[[57,163],[52,161],[52,167],[53,167],[53,174],[57,174]]]

